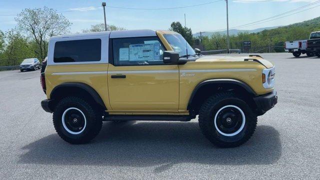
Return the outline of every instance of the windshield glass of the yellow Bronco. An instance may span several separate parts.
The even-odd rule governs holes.
[[[163,36],[169,42],[173,50],[179,53],[179,56],[186,55],[186,49],[188,55],[195,54],[192,47],[186,42],[181,34],[163,34]]]

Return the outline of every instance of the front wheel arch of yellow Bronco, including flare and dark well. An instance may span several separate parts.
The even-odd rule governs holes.
[[[231,78],[207,79],[199,82],[193,89],[187,104],[187,110],[193,111],[190,113],[197,114],[198,107],[207,97],[222,90],[234,90],[244,93],[243,96],[253,97],[256,95],[255,91],[241,80]],[[247,100],[250,105],[255,106],[253,98]]]

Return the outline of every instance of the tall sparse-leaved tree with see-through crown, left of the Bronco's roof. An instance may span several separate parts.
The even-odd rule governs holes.
[[[47,52],[47,39],[53,35],[68,32],[71,25],[68,19],[52,8],[26,8],[15,17],[19,30],[33,38],[37,44],[37,55],[44,58]]]

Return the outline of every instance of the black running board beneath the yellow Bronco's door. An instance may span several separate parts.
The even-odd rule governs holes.
[[[104,121],[157,120],[157,121],[190,121],[189,115],[105,115]]]

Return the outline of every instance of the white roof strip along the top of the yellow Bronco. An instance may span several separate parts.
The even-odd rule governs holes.
[[[55,35],[55,36],[52,36],[51,39],[66,38],[66,37],[86,37],[86,36],[96,36],[96,35],[109,35],[110,38],[119,38],[119,37],[155,36],[156,33],[155,33],[155,30],[151,30],[151,29],[112,30],[112,31],[102,31],[102,32],[85,32],[85,33]]]

